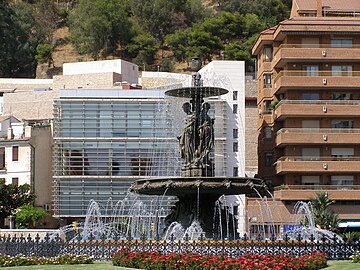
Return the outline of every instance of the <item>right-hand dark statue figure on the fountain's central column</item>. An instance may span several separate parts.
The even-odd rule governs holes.
[[[198,127],[200,139],[196,150],[198,162],[206,162],[209,152],[214,147],[214,119],[209,116],[209,110],[210,104],[205,102],[201,108],[200,125]]]

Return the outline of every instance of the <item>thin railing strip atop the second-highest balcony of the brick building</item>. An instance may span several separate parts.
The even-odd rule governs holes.
[[[360,71],[307,71],[307,70],[283,70],[280,71],[274,78],[274,83],[283,76],[291,77],[359,77]]]

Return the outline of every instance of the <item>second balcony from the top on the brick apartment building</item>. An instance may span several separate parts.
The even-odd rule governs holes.
[[[360,71],[304,71],[283,70],[274,78],[273,95],[288,89],[357,89],[360,87]]]

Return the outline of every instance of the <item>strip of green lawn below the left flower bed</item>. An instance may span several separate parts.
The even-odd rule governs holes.
[[[31,265],[31,266],[16,266],[16,267],[0,267],[9,270],[126,270],[119,266],[113,266],[109,262],[95,262],[94,264],[78,264],[78,265]]]

